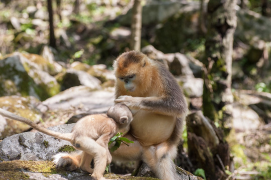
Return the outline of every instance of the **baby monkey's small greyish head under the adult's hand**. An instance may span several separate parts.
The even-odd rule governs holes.
[[[107,115],[114,119],[117,123],[128,125],[132,121],[132,113],[129,107],[124,104],[117,103],[107,110]]]

